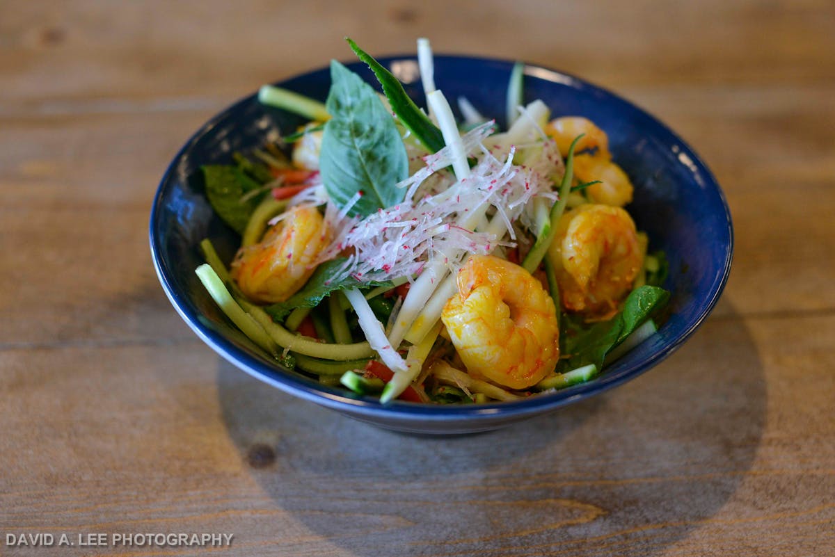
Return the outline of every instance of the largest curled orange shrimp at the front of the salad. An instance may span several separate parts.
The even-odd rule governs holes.
[[[504,259],[469,258],[441,319],[468,372],[493,383],[525,389],[559,359],[554,302],[536,278]]]

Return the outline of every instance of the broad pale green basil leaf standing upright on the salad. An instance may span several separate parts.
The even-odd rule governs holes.
[[[331,62],[331,92],[319,167],[328,195],[344,207],[361,193],[350,214],[366,216],[399,203],[405,190],[396,184],[408,176],[408,158],[391,114],[370,85],[356,73]]]

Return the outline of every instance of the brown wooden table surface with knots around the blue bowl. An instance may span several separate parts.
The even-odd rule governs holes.
[[[489,434],[360,424],[261,384],[159,287],[151,199],[261,83],[371,53],[520,58],[654,113],[736,228],[673,357]],[[835,555],[835,4],[0,5],[0,555]],[[8,534],[234,534],[204,548]]]

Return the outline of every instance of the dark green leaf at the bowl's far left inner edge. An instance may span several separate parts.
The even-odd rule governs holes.
[[[261,188],[243,170],[234,166],[206,165],[202,167],[206,197],[223,221],[243,234],[246,223],[261,201],[261,195],[245,198],[244,194]]]

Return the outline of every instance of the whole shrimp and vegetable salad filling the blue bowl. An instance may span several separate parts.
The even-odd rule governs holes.
[[[325,104],[265,86],[310,123],[203,168],[241,243],[227,268],[204,240],[196,273],[249,339],[323,384],[451,404],[589,380],[655,332],[665,258],[603,130],[523,106],[520,63],[506,130],[466,98],[457,122],[420,39],[424,111],[348,42],[384,95],[336,61]]]

